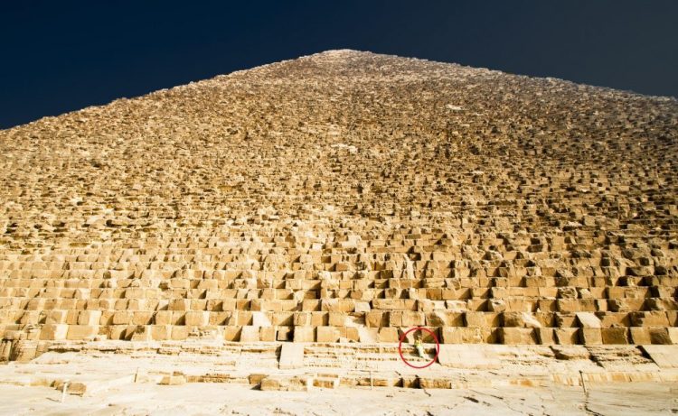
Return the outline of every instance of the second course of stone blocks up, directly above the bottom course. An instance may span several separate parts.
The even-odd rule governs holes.
[[[204,310],[0,310],[0,324],[39,325],[254,325],[296,327],[614,328],[678,327],[678,310],[631,312],[483,312],[451,310],[204,311]]]

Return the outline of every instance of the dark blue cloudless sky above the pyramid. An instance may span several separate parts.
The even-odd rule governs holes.
[[[678,97],[677,22],[674,0],[3,2],[0,128],[342,48]]]

